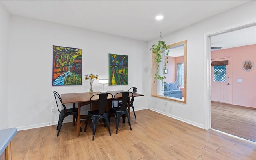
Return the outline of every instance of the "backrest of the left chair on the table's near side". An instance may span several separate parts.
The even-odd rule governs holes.
[[[96,97],[98,97],[98,98],[96,98]],[[113,95],[111,93],[99,93],[96,95],[92,95],[90,98],[90,111],[92,109],[92,102],[96,99],[98,99],[99,114],[101,115],[106,112],[107,101],[108,101],[108,99],[111,99],[110,100],[110,103],[111,103],[111,101],[113,99]],[[109,106],[111,106],[111,104],[109,104]],[[108,108],[110,108],[110,107],[108,107]]]

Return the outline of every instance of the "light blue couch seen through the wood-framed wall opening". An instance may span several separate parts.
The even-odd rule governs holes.
[[[181,98],[182,90],[176,83],[164,83],[164,96]]]

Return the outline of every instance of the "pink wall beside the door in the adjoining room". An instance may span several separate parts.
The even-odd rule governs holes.
[[[256,108],[256,44],[211,52],[212,59],[226,57],[230,57],[230,104]],[[254,63],[252,71],[242,69],[245,60]]]

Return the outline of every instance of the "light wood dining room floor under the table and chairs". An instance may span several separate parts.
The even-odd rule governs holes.
[[[14,160],[255,160],[256,145],[214,130],[204,130],[145,109],[131,114],[132,130],[112,117],[76,136],[76,126],[63,124],[18,131],[13,139]],[[84,130],[84,127],[82,128]]]

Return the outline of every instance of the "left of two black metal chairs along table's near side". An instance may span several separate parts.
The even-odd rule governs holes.
[[[110,95],[111,97],[108,97],[108,95]],[[111,93],[100,93],[100,94],[92,95],[92,97],[90,98],[90,111],[88,111],[88,114],[87,114],[87,120],[86,120],[84,132],[86,132],[89,119],[91,118],[92,119],[92,140],[94,140],[97,122],[101,118],[103,119],[104,127],[106,127],[106,122],[107,122],[108,132],[109,132],[109,135],[111,136],[110,126],[108,121],[108,111],[106,111],[108,98],[111,98],[111,100],[109,100],[110,102],[109,106],[111,106],[111,101],[113,99],[113,95]],[[92,111],[92,103],[95,99],[99,99],[98,100],[99,109]]]

